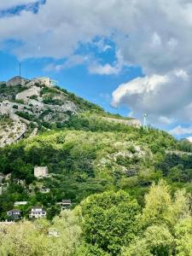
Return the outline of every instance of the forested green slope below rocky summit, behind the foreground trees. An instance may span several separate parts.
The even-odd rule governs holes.
[[[48,218],[60,212],[63,199],[73,207],[86,196],[124,189],[143,205],[143,195],[153,181],[165,177],[172,189],[192,191],[192,155],[189,143],[177,142],[165,131],[143,130],[101,119],[97,113],[73,116],[63,131],[49,131],[0,149],[3,194],[1,219],[15,201],[27,217],[37,203]],[[177,150],[177,151],[176,151]],[[176,152],[176,153],[174,153]],[[38,180],[34,166],[48,166],[50,177]],[[41,188],[49,189],[42,193]]]

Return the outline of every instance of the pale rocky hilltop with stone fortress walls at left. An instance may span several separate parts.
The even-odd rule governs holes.
[[[72,114],[78,113],[78,110],[67,93],[55,89],[49,78],[31,81],[21,77],[9,79],[0,91],[0,114],[2,117],[9,117],[12,122],[8,122],[6,131],[3,131],[5,124],[2,126],[0,147],[15,143],[30,127],[33,128],[33,131],[30,129],[31,136],[35,136],[39,126],[49,129],[49,125],[53,123],[62,125]]]

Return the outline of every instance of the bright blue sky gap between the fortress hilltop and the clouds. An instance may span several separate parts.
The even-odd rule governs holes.
[[[84,49],[87,51],[87,49]],[[113,63],[113,49],[108,50],[108,53],[99,54],[96,49],[91,49],[91,54],[101,58],[102,61]],[[49,65],[50,58],[29,58],[26,60],[18,60],[15,55],[9,55],[5,51],[0,51],[0,79],[7,81],[8,79],[19,75],[21,64],[21,76],[27,79],[35,77],[48,76],[51,79],[58,81],[61,87],[82,96],[90,102],[94,102],[102,108],[112,113],[120,113],[128,116],[131,110],[125,106],[119,109],[111,108],[112,93],[118,84],[125,83],[138,76],[142,76],[140,67],[129,67],[122,70],[119,74],[113,75],[98,75],[89,73],[84,63],[79,66],[65,68],[61,71],[46,70],[45,67]],[[61,61],[54,61],[57,63]],[[20,64],[19,64],[20,63]]]

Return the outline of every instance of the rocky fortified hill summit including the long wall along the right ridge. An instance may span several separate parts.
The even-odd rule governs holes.
[[[49,78],[16,76],[0,82],[0,147],[32,137],[38,131],[61,129],[79,113],[99,113],[111,122],[140,127],[137,119],[125,119],[104,112],[96,104],[60,88]]]

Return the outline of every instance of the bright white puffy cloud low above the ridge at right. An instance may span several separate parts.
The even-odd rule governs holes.
[[[174,119],[190,121],[192,119],[191,76],[184,71],[170,72],[166,75],[151,75],[133,79],[120,84],[113,91],[113,104],[125,105],[138,117],[148,113],[156,123],[166,125]]]

